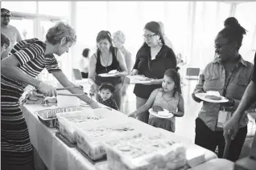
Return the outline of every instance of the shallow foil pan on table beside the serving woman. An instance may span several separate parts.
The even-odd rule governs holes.
[[[38,116],[39,121],[45,126],[59,128],[59,122],[56,116],[57,113],[81,111],[83,109],[85,109],[85,107],[61,107],[35,111],[35,114]]]

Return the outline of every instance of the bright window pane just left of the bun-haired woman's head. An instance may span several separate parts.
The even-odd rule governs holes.
[[[214,59],[214,38],[224,28],[231,4],[225,2],[196,2],[196,16],[191,54],[192,67],[203,69]]]

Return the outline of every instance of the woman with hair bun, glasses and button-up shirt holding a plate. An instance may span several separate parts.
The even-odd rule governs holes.
[[[218,147],[218,157],[222,157],[225,149],[222,117],[231,115],[236,110],[246,87],[250,83],[254,65],[245,61],[239,54],[243,35],[246,30],[236,18],[227,18],[225,28],[215,38],[217,59],[209,63],[200,75],[199,83],[192,94],[192,98],[200,103],[196,93],[218,91],[220,95],[229,99],[226,103],[203,102],[203,106],[196,118],[195,144],[215,152]],[[231,141],[227,159],[236,161],[242,151],[247,134],[247,116],[241,118],[239,131]]]

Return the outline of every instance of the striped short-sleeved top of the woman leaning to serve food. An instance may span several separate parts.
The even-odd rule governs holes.
[[[45,50],[46,44],[44,42],[38,38],[31,38],[18,42],[10,53],[17,59],[19,70],[35,78],[44,68],[49,73],[61,71],[54,55],[44,55]],[[19,90],[23,90],[28,85],[9,79],[4,75],[1,76],[1,80],[2,83],[17,87]]]

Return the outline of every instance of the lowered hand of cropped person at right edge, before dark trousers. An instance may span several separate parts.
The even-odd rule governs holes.
[[[236,114],[236,111],[233,113],[233,116],[224,123],[223,125],[223,136],[225,141],[231,137],[231,140],[234,140],[239,131],[239,117]]]

